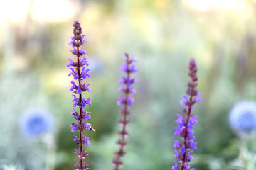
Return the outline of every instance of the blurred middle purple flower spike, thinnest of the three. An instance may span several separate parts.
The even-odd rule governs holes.
[[[115,156],[112,160],[114,170],[119,170],[122,168],[123,162],[121,157],[126,154],[126,152],[124,152],[124,148],[126,148],[126,145],[129,143],[126,140],[126,137],[129,135],[129,132],[126,130],[126,125],[129,123],[127,115],[131,113],[128,106],[132,106],[134,99],[132,98],[131,94],[135,94],[136,92],[133,89],[132,84],[137,83],[137,80],[131,77],[131,73],[137,72],[137,68],[134,64],[132,64],[132,62],[136,62],[137,60],[134,57],[129,57],[128,54],[125,54],[124,61],[125,64],[122,64],[121,70],[125,72],[126,75],[123,76],[119,81],[119,84],[121,85],[119,91],[123,91],[124,96],[120,97],[117,101],[118,106],[121,104],[124,106],[119,111],[123,115],[123,118],[120,118],[119,120],[119,124],[122,126],[122,130],[118,132],[119,139],[117,140],[117,145],[119,146],[119,151],[114,152]]]

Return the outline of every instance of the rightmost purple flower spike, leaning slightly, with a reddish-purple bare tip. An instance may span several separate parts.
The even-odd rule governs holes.
[[[190,81],[188,81],[188,89],[186,91],[187,96],[183,96],[183,99],[180,101],[181,106],[186,106],[187,108],[183,109],[183,113],[186,115],[186,120],[183,119],[181,114],[178,114],[178,119],[176,120],[176,132],[174,135],[178,135],[181,137],[181,141],[174,140],[174,149],[178,148],[178,150],[174,150],[176,154],[174,157],[178,158],[178,162],[181,163],[181,168],[178,166],[178,162],[174,161],[174,166],[172,166],[173,170],[186,170],[190,169],[188,166],[188,162],[193,158],[191,156],[193,150],[196,150],[196,142],[195,136],[193,135],[193,124],[198,124],[196,120],[197,115],[192,115],[191,110],[193,105],[198,101],[202,101],[200,97],[200,93],[196,90],[196,86],[198,84],[198,77],[196,76],[197,67],[194,59],[190,60],[189,63],[189,72],[188,75],[190,77]],[[193,149],[193,150],[192,150]],[[196,170],[194,168],[190,170]]]

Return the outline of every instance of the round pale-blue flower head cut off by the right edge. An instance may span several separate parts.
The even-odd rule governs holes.
[[[247,134],[256,130],[256,103],[242,101],[230,111],[230,126],[238,134]]]

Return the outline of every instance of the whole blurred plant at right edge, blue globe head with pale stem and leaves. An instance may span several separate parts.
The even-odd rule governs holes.
[[[254,170],[256,167],[255,143],[250,142],[256,132],[256,103],[240,101],[230,111],[230,126],[240,138],[240,153],[230,162],[231,169]],[[255,138],[255,137],[254,137]]]

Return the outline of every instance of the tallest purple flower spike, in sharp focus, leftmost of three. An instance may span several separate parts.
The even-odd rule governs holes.
[[[70,126],[71,132],[78,131],[78,136],[73,136],[73,141],[79,146],[79,149],[75,149],[74,153],[78,155],[80,162],[76,162],[74,167],[75,170],[85,170],[90,169],[87,164],[87,162],[84,162],[83,159],[88,156],[87,151],[83,148],[83,145],[89,145],[89,137],[86,135],[82,135],[82,131],[85,130],[93,130],[92,125],[90,123],[87,123],[87,120],[90,120],[90,112],[85,111],[86,106],[90,106],[90,97],[87,99],[82,98],[82,94],[85,91],[90,92],[90,84],[85,84],[84,79],[86,77],[90,77],[90,69],[87,69],[88,61],[87,61],[87,55],[86,51],[83,50],[82,45],[87,42],[85,40],[85,35],[82,34],[82,28],[80,26],[80,23],[78,21],[75,21],[73,24],[74,30],[73,34],[74,36],[71,38],[71,41],[69,42],[69,45],[72,47],[72,50],[70,52],[76,57],[75,61],[72,59],[68,59],[70,62],[68,62],[67,67],[71,67],[70,74],[68,76],[73,76],[74,79],[77,81],[70,81],[70,91],[73,91],[73,112],[71,115],[75,118],[75,120],[78,120],[78,123],[72,123]],[[84,55],[84,57],[82,57]],[[77,94],[78,96],[76,96]],[[75,110],[76,106],[78,106],[78,111]]]

